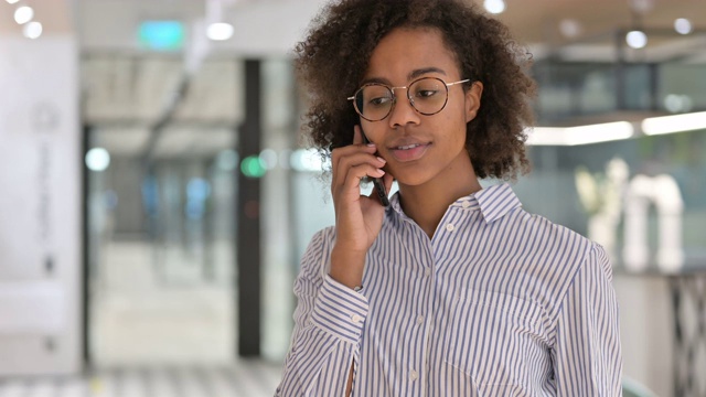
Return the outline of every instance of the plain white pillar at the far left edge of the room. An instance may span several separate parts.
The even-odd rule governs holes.
[[[14,28],[0,32],[0,376],[72,374],[83,337],[77,42]]]

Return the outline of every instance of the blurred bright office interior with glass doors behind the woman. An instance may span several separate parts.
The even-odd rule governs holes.
[[[477,1],[535,60],[515,191],[612,258],[625,395],[706,396],[706,1]],[[333,224],[324,3],[0,0],[0,396],[274,394]]]

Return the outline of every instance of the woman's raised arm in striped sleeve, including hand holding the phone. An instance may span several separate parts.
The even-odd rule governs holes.
[[[360,339],[367,316],[367,300],[353,290],[361,286],[365,255],[383,224],[385,208],[376,192],[361,195],[365,176],[384,175],[391,187],[393,176],[381,168],[375,144],[364,144],[359,126],[353,144],[331,153],[331,195],[335,207],[335,244],[317,235],[302,258],[295,286],[299,299],[295,332],[285,363],[281,396],[349,396],[360,358]],[[333,247],[330,245],[333,244]],[[325,261],[330,258],[330,267]],[[330,269],[324,275],[324,269]]]

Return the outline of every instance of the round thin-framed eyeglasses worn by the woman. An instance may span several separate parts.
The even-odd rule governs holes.
[[[460,82],[446,83],[438,77],[421,77],[406,87],[388,87],[381,83],[367,83],[355,95],[353,100],[355,111],[367,121],[381,121],[389,116],[397,101],[395,89],[407,89],[409,105],[420,115],[431,116],[443,110],[449,100],[449,87],[468,83],[469,78]]]

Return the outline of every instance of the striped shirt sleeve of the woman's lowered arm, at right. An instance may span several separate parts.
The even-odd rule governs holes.
[[[595,245],[569,287],[553,350],[558,396],[620,396],[618,302],[606,251]]]

